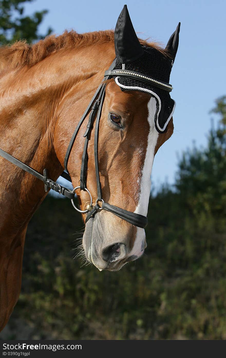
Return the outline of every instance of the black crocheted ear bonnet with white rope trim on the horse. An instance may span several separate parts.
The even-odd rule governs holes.
[[[134,71],[134,73],[169,84],[179,44],[179,31],[180,23],[166,45],[167,54],[153,47],[142,46],[132,26],[127,6],[124,5],[115,28],[115,70],[130,73]],[[139,77],[122,77],[119,74],[115,82],[122,91],[142,91],[155,97],[155,127],[160,133],[166,131],[176,105],[168,91],[156,87],[154,83],[142,82]]]

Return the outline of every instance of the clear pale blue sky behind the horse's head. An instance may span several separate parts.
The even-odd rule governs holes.
[[[174,183],[178,155],[192,146],[206,144],[210,129],[209,111],[214,100],[225,90],[225,13],[226,1],[72,1],[35,0],[25,4],[25,11],[49,10],[40,25],[40,33],[51,26],[54,33],[65,29],[79,33],[114,29],[117,18],[127,4],[139,37],[166,45],[181,21],[180,43],[170,83],[176,101],[174,134],[156,154],[152,183],[158,187],[167,179]]]

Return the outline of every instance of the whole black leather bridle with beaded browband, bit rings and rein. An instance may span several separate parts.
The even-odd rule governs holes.
[[[115,214],[116,216],[120,217],[121,219],[129,222],[130,224],[132,224],[134,226],[137,226],[140,228],[145,228],[145,226],[147,225],[147,217],[146,216],[136,214],[134,212],[127,211],[125,209],[121,209],[121,208],[111,205],[109,203],[105,203],[104,199],[102,198],[102,189],[101,189],[101,183],[100,183],[98,155],[97,155],[97,145],[98,145],[98,132],[99,132],[101,110],[102,110],[104,97],[105,97],[106,80],[109,78],[118,77],[118,76],[136,78],[136,79],[139,79],[139,81],[146,82],[148,84],[151,83],[152,85],[159,87],[161,89],[164,89],[167,92],[172,91],[172,86],[169,83],[158,81],[157,79],[144,76],[138,72],[132,72],[132,71],[130,72],[130,71],[125,71],[125,70],[114,70],[115,64],[116,64],[116,59],[112,62],[108,71],[105,71],[104,78],[103,78],[102,82],[100,83],[99,87],[97,88],[97,90],[96,90],[94,96],[92,97],[89,105],[87,106],[84,114],[82,115],[79,123],[77,124],[75,131],[71,137],[67,151],[66,151],[64,166],[65,166],[65,170],[67,171],[67,163],[68,163],[71,149],[75,142],[77,133],[78,133],[82,123],[84,122],[85,118],[87,117],[89,111],[91,110],[90,114],[89,114],[89,120],[88,120],[88,123],[86,126],[86,131],[84,133],[85,142],[84,142],[84,149],[83,149],[82,161],[81,161],[80,186],[79,187],[76,187],[71,191],[70,189],[65,188],[65,187],[61,186],[60,184],[54,182],[53,180],[49,179],[47,177],[46,169],[44,169],[43,175],[42,175],[39,172],[37,172],[36,170],[34,170],[33,168],[31,168],[30,166],[22,163],[20,160],[14,158],[12,155],[6,153],[2,149],[0,149],[0,155],[3,158],[10,161],[11,163],[18,166],[19,168],[27,171],[28,173],[36,176],[36,178],[42,180],[44,182],[46,192],[49,190],[49,188],[51,188],[51,189],[55,190],[56,192],[58,192],[59,194],[65,195],[66,197],[70,198],[73,207],[78,212],[84,213],[84,214],[87,213],[86,220],[85,220],[86,223],[91,217],[94,217],[97,212],[99,212],[101,210],[106,210],[108,212],[111,212],[112,214]],[[96,115],[96,112],[97,112],[97,115]],[[86,188],[86,181],[87,181],[87,165],[88,165],[87,149],[88,149],[88,142],[90,140],[90,134],[92,131],[95,117],[96,117],[96,124],[95,124],[95,134],[94,134],[94,160],[95,160],[95,173],[96,173],[96,184],[97,184],[97,199],[96,199],[95,205],[93,206],[92,205],[92,203],[93,203],[92,196],[91,196],[89,190]],[[70,175],[68,172],[64,171],[61,174],[61,176],[71,182],[71,178],[70,178]],[[75,191],[79,188],[80,188],[80,190],[86,191],[90,195],[90,205],[87,205],[86,210],[79,210],[75,206],[74,201],[73,201],[73,199],[75,197]],[[100,202],[102,202],[101,206],[99,205]]]

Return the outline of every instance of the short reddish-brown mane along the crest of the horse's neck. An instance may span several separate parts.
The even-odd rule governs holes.
[[[158,43],[148,43],[146,40],[139,39],[142,45],[154,47],[165,55],[167,54]],[[12,45],[0,47],[0,70],[6,68],[15,69],[25,65],[31,67],[42,61],[51,53],[59,50],[69,50],[91,44],[101,44],[105,42],[114,42],[114,31],[95,31],[84,34],[78,34],[76,31],[65,31],[62,35],[50,35],[39,42],[30,45],[24,41],[17,41]]]

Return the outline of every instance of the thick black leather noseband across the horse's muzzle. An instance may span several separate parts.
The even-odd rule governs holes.
[[[127,211],[125,209],[118,208],[117,206],[110,205],[108,203],[102,203],[102,209],[110,211],[116,216],[120,217],[123,220],[128,221],[130,224],[145,228],[147,226],[147,217],[132,213],[131,211]]]

